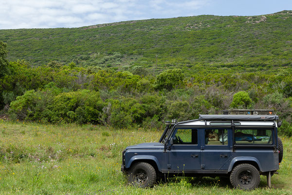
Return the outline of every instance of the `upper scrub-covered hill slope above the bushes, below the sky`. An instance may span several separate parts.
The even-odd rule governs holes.
[[[292,11],[264,16],[151,19],[80,28],[0,30],[8,60],[80,66],[289,66]]]

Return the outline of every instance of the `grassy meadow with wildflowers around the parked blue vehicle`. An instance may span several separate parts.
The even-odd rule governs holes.
[[[152,189],[127,185],[120,172],[121,152],[157,141],[162,131],[113,130],[109,127],[49,125],[0,120],[0,195],[291,195],[292,139],[282,137],[284,159],[272,189],[261,176],[258,189],[231,189],[219,177],[179,177]]]

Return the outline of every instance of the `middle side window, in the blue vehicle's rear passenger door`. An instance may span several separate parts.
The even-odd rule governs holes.
[[[205,145],[228,145],[227,129],[206,129]]]

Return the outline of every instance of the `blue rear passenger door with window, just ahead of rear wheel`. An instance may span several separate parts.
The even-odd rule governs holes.
[[[230,127],[214,127],[204,130],[202,140],[202,164],[204,170],[227,170],[231,156]],[[202,136],[203,137],[203,136]]]

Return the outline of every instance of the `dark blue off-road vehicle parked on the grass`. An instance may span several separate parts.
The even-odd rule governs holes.
[[[234,188],[252,190],[260,175],[277,174],[283,145],[276,115],[200,115],[166,121],[158,142],[128,146],[122,172],[131,184],[151,187],[170,176],[229,177]]]

